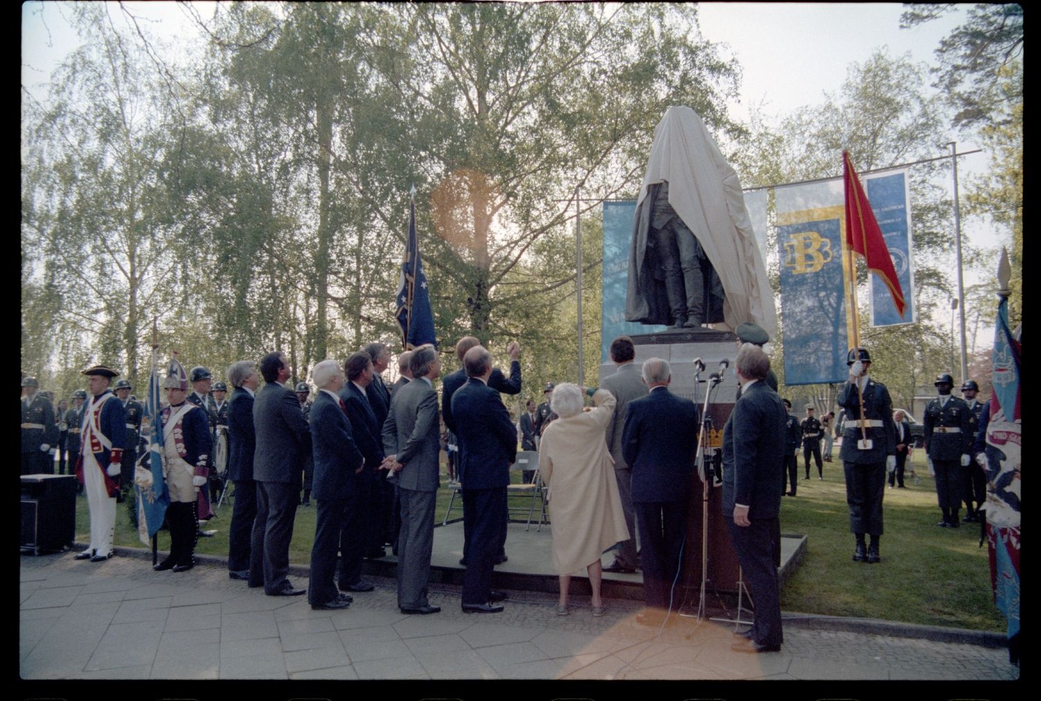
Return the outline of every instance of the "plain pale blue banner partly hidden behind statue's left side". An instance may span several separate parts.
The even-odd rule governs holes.
[[[626,320],[626,294],[629,285],[629,248],[633,238],[636,201],[604,203],[604,264],[601,304],[600,362],[608,362],[611,341],[618,336],[653,334],[663,326],[646,326]]]

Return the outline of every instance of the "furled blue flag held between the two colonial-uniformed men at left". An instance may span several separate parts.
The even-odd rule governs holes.
[[[181,372],[183,371],[184,368],[181,368]],[[142,422],[142,435],[148,437],[148,451],[141,457],[134,469],[134,487],[137,490],[137,537],[145,545],[159,533],[167,515],[167,507],[170,505],[170,492],[162,477],[161,384],[153,347],[152,371],[148,378],[148,396],[145,397],[145,417]],[[147,429],[145,422],[148,423]]]

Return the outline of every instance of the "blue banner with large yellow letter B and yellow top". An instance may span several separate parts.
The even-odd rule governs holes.
[[[848,374],[843,211],[826,207],[778,217],[785,385],[842,382]]]

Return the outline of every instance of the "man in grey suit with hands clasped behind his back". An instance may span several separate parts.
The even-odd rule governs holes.
[[[433,380],[441,362],[432,345],[421,345],[409,361],[412,382],[395,392],[383,423],[381,469],[393,470],[401,500],[398,536],[398,605],[403,614],[436,614],[427,598],[434,545],[440,421]]]

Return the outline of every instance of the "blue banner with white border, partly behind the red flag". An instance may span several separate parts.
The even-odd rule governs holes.
[[[911,265],[911,208],[908,203],[907,174],[903,171],[892,175],[875,176],[865,179],[864,187],[867,199],[871,202],[871,211],[882,230],[882,237],[889,249],[889,257],[893,259],[896,279],[904,290],[904,301],[907,308],[902,318],[893,304],[889,288],[877,278],[868,276],[871,286],[871,326],[891,327],[898,323],[915,321],[914,307],[914,269]]]

